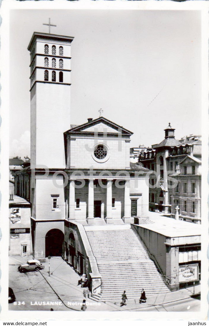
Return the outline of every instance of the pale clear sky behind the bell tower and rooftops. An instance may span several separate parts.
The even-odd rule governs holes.
[[[197,10],[11,10],[10,156],[30,157],[33,32],[75,37],[71,121],[99,117],[132,131],[131,147],[201,135],[201,13]],[[15,55],[14,55],[15,53]],[[59,107],[57,108],[59,110]],[[43,135],[44,137],[44,135]]]

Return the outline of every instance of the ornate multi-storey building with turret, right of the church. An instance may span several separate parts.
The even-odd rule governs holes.
[[[153,171],[149,182],[149,209],[201,223],[201,137],[190,135],[177,141],[174,128],[165,139],[140,153],[139,162]]]

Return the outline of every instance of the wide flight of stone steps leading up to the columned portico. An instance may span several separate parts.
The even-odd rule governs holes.
[[[139,299],[142,288],[147,297],[170,292],[134,230],[85,230],[102,276],[102,301],[119,303],[124,290],[128,299]]]

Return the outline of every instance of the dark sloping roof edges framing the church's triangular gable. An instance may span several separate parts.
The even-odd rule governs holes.
[[[68,132],[86,132],[85,129],[87,129],[89,127],[92,127],[92,126],[95,126],[95,125],[97,125],[97,124],[99,124],[101,122],[104,123],[105,125],[113,128],[113,129],[117,130],[117,132],[118,132],[118,129],[121,129],[121,132],[123,134],[127,134],[127,135],[132,135],[133,134],[133,132],[129,131],[128,129],[125,129],[122,126],[119,126],[116,123],[114,123],[114,122],[112,122],[112,121],[110,121],[110,120],[108,120],[108,119],[106,119],[104,117],[99,117],[97,119],[86,122],[86,123],[84,123],[84,124],[82,124],[80,126],[75,126],[75,127],[71,128],[71,129],[65,131],[64,134],[66,134]],[[89,132],[89,131],[87,131],[87,132]]]

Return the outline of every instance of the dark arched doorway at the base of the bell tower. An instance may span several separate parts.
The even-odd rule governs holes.
[[[46,257],[61,256],[63,250],[64,234],[59,229],[52,229],[45,236]]]

